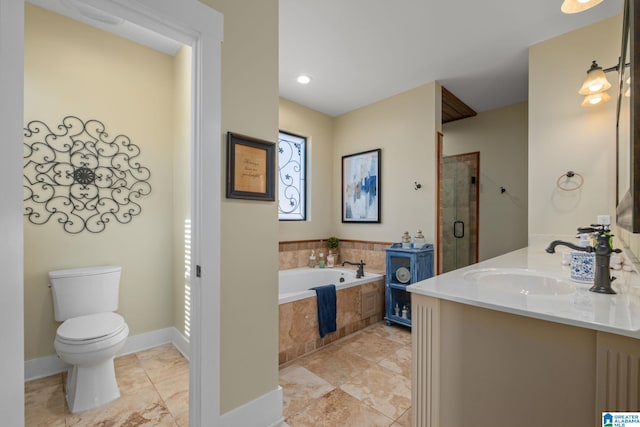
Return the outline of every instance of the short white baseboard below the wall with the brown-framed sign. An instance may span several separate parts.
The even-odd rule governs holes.
[[[284,422],[282,416],[282,387],[263,394],[220,417],[222,427],[276,427]]]

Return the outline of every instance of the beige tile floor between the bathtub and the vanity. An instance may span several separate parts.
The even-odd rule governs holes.
[[[290,427],[411,427],[411,332],[376,323],[280,369]]]

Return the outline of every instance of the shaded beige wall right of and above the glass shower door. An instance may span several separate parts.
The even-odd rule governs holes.
[[[442,128],[444,155],[480,152],[480,261],[527,246],[527,103]]]

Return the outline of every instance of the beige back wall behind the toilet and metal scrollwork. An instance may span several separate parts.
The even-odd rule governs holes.
[[[25,359],[54,354],[50,270],[123,267],[120,309],[132,335],[172,325],[172,79],[170,56],[26,4],[25,121],[101,120],[129,136],[151,170],[150,196],[129,224],[69,234],[25,220]],[[96,49],[99,46],[99,49]]]

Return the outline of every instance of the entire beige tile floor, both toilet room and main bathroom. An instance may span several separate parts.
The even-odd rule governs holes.
[[[72,414],[64,374],[25,384],[26,426],[189,425],[189,364],[172,345],[115,360],[121,398]],[[410,427],[411,333],[369,326],[280,369],[290,427]]]

